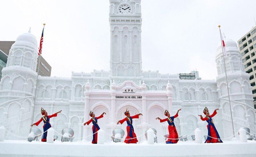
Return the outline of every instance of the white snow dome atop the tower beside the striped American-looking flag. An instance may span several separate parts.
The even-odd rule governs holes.
[[[35,35],[30,33],[30,29],[28,33],[23,33],[19,35],[15,41],[15,43],[26,43],[28,46],[35,47],[37,49],[37,41]]]

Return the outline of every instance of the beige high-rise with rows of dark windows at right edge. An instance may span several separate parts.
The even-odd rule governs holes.
[[[239,39],[237,44],[242,54],[245,72],[250,75],[254,108],[256,108],[256,27],[253,27],[248,33]]]

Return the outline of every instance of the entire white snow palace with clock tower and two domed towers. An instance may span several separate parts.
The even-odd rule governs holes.
[[[155,118],[164,118],[165,109],[173,115],[182,108],[174,122],[179,135],[188,135],[196,128],[207,133],[206,122],[198,116],[207,106],[210,113],[220,108],[213,118],[220,137],[232,136],[221,45],[216,54],[216,81],[180,80],[178,74],[142,71],[140,0],[109,2],[110,70],[72,72],[71,78],[39,76],[34,102],[37,42],[30,31],[22,34],[12,45],[7,66],[2,71],[0,125],[13,134],[27,136],[30,124],[41,118],[40,108],[44,107],[49,114],[62,110],[57,117],[50,119],[53,129],[61,132],[63,128],[70,127],[75,132],[74,137],[83,137],[92,134],[92,126],[83,126],[92,110],[96,115],[107,113],[98,122],[101,129],[111,134],[117,127],[125,130],[126,125],[116,125],[116,122],[124,118],[124,111],[128,108],[131,115],[143,114],[133,121],[137,135],[148,128],[155,128],[159,135],[158,142],[164,142],[162,136],[168,134],[168,124],[160,123]],[[248,127],[255,134],[256,115],[249,75],[244,72],[236,42],[224,40],[235,132],[240,127]],[[39,125],[40,129],[42,125]],[[6,136],[17,139],[9,134]],[[106,140],[110,139],[106,136]],[[139,140],[145,140],[145,137],[141,136]]]

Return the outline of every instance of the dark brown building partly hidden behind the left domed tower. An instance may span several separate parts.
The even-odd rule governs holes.
[[[12,47],[12,44],[15,41],[0,41],[0,79],[2,78],[2,69],[6,67],[7,58],[9,55],[9,51]],[[41,76],[51,76],[52,67],[47,63],[44,57],[41,56],[40,63],[38,63],[39,57],[37,58],[37,66],[39,66],[39,75]],[[37,72],[37,68],[36,68]]]

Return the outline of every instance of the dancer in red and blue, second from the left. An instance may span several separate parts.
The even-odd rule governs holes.
[[[103,112],[99,117],[95,117],[95,114],[90,111],[89,115],[92,117],[88,122],[85,122],[84,125],[89,125],[92,122],[92,144],[97,144],[98,141],[98,130],[100,130],[100,127],[98,125],[98,119],[102,118],[103,115],[106,114],[105,112]],[[96,132],[96,133],[95,133]]]

